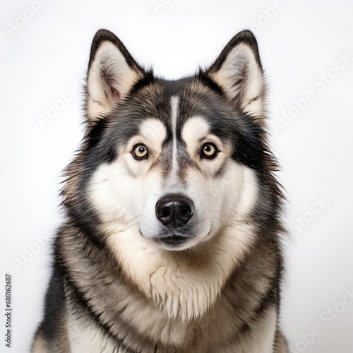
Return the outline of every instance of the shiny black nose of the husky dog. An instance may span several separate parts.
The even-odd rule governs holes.
[[[193,201],[186,196],[169,194],[157,201],[155,214],[167,227],[182,227],[193,217]]]

